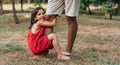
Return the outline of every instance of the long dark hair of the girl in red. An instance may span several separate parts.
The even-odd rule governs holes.
[[[31,29],[31,27],[33,26],[33,24],[37,22],[37,20],[34,20],[34,17],[36,17],[36,15],[37,15],[37,13],[38,13],[38,11],[39,11],[40,9],[42,9],[42,10],[45,12],[45,10],[44,10],[42,7],[36,7],[36,8],[32,11],[29,29]]]

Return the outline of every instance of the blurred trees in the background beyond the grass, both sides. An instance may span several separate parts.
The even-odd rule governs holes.
[[[0,0],[0,14],[3,14],[3,4],[12,4],[13,18],[18,24],[15,4],[21,4],[21,12],[24,4],[39,5],[47,4],[48,0]],[[80,14],[104,15],[112,19],[112,15],[120,15],[120,0],[80,0]]]

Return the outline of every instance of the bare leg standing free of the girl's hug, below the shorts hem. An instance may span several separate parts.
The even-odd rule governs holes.
[[[77,20],[76,17],[66,16],[68,21],[68,44],[66,47],[66,52],[71,53],[72,47],[77,34]]]

